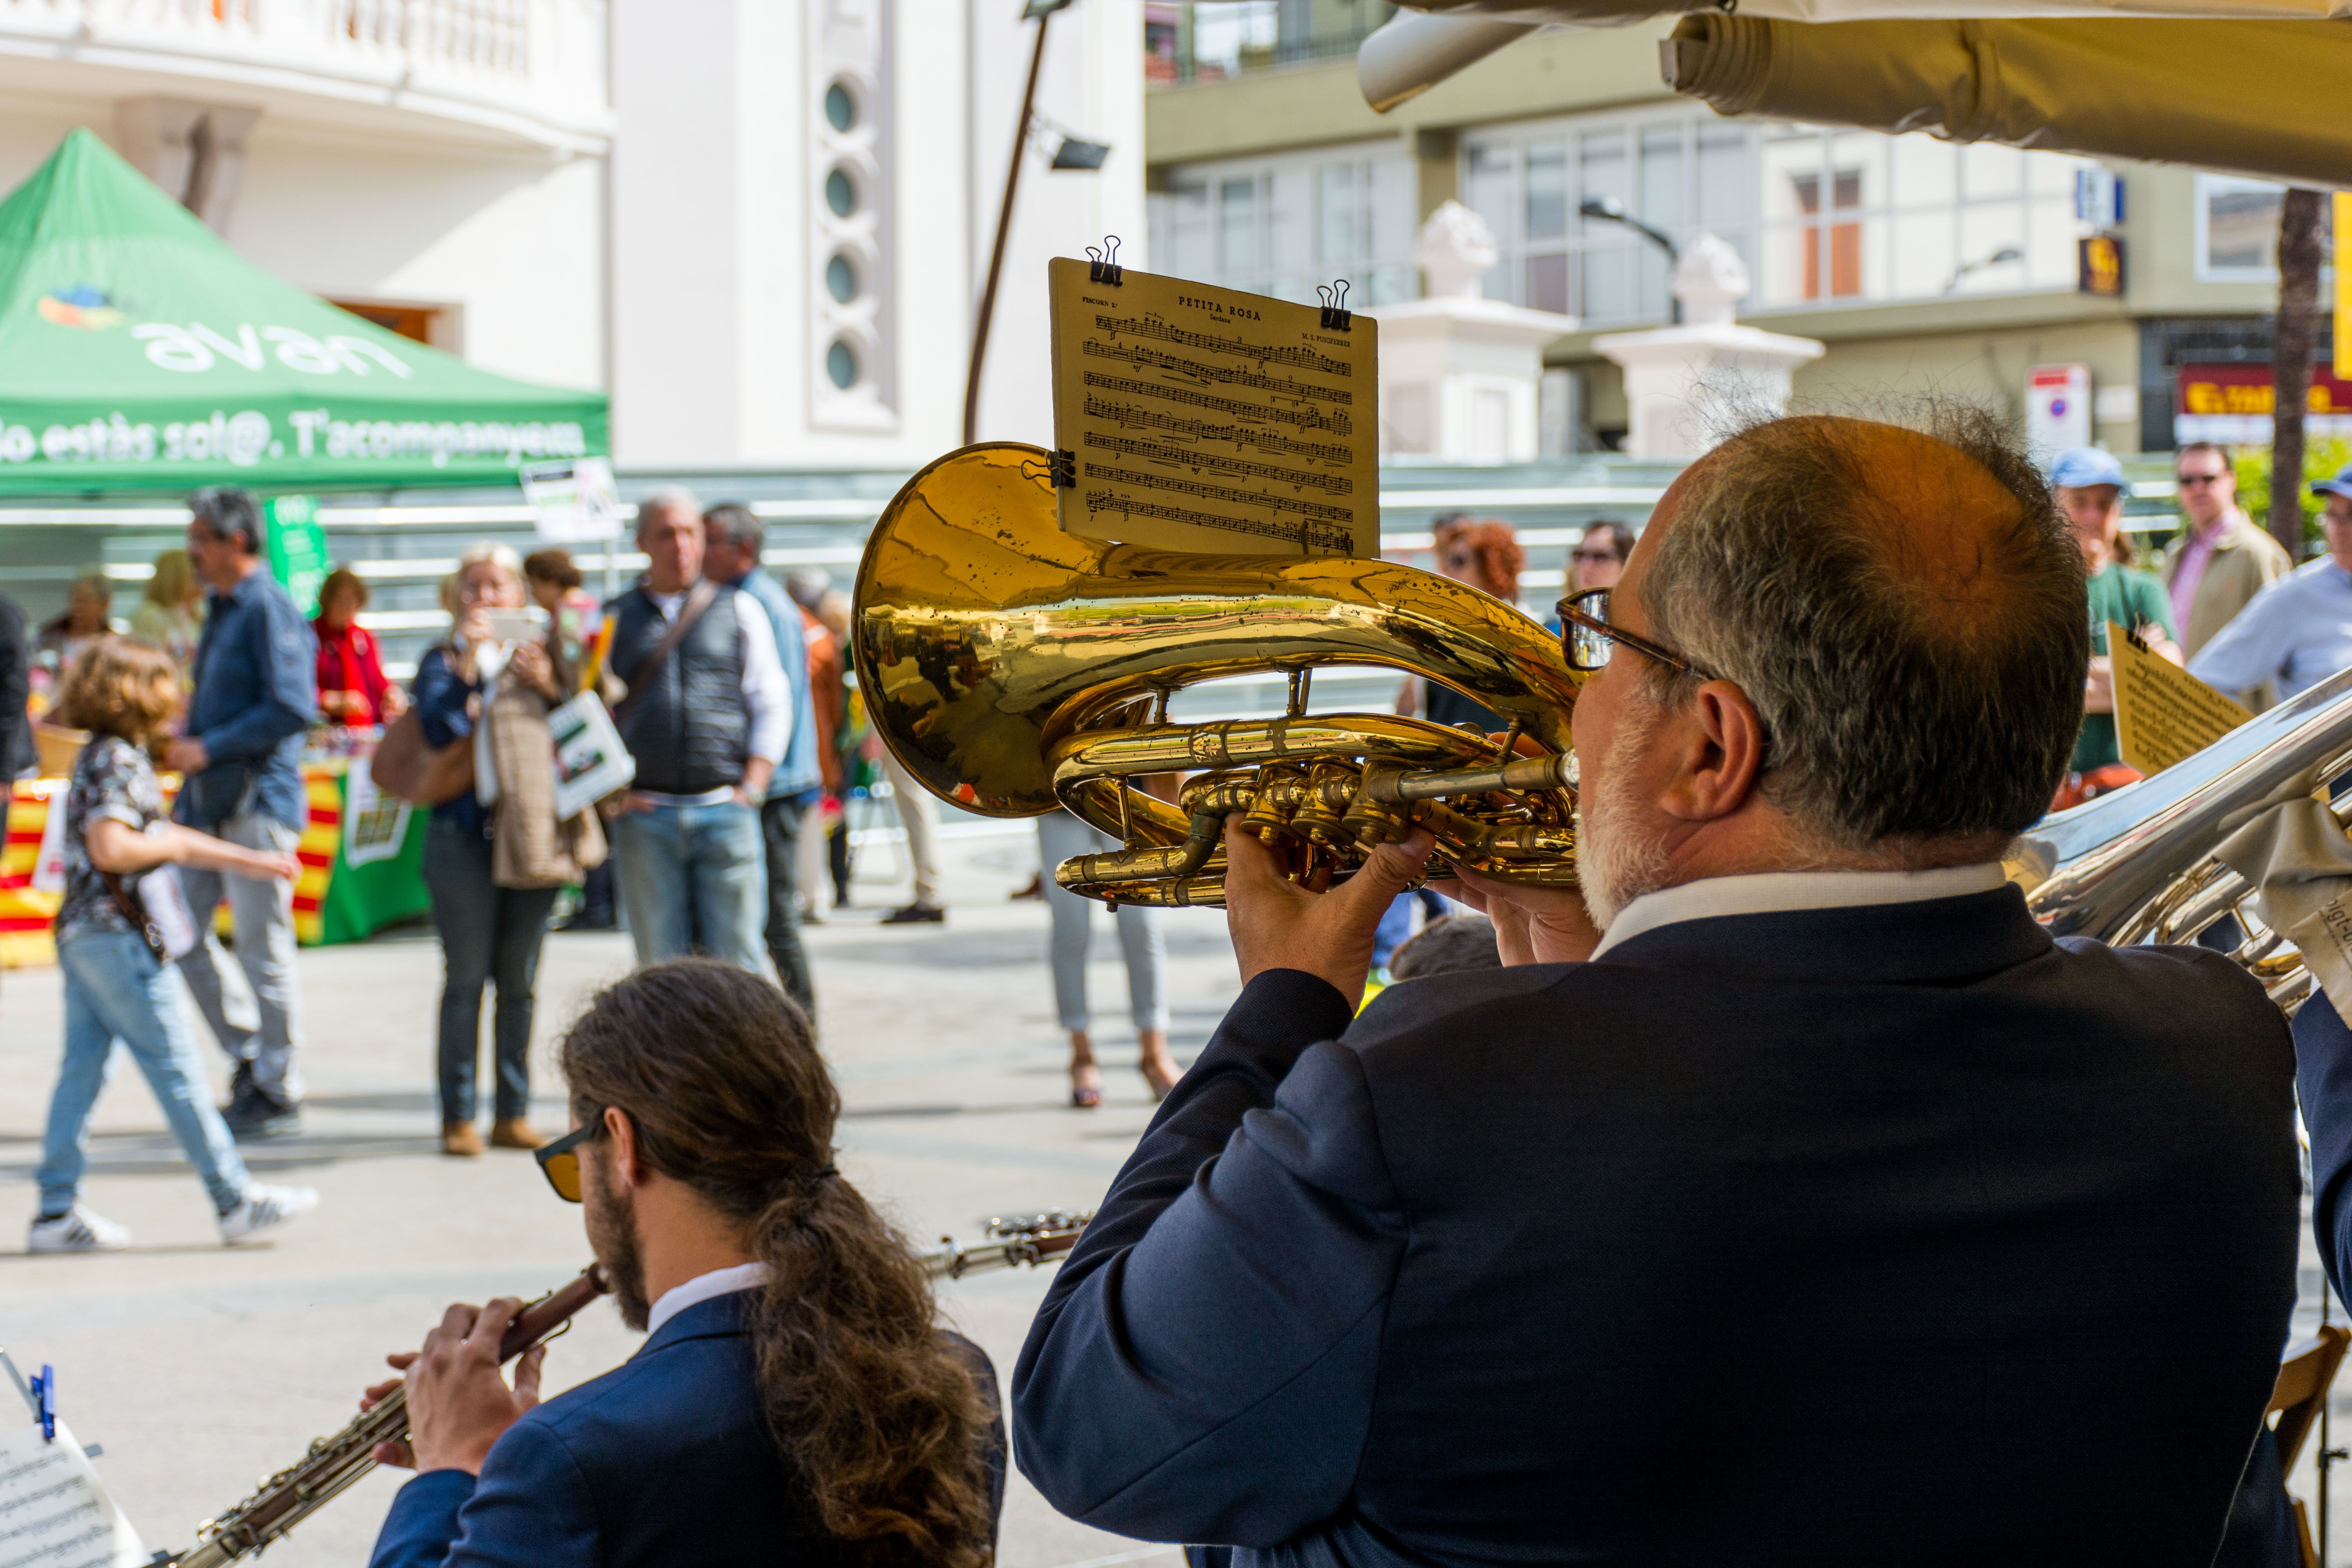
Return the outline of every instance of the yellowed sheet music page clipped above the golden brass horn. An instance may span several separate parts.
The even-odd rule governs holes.
[[[1065,534],[1204,555],[1381,552],[1378,324],[1047,263]]]

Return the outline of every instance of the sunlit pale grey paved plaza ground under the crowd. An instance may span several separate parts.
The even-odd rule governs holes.
[[[877,914],[908,896],[903,858],[873,844],[863,860],[861,907],[807,931],[826,1051],[844,1095],[842,1171],[920,1239],[976,1237],[993,1213],[1094,1204],[1150,1117],[1110,919],[1096,917],[1091,973],[1105,1105],[1073,1112],[1044,966],[1047,912],[1007,903],[1035,867],[1028,825],[950,827],[946,926],[880,926]],[[1174,1044],[1178,1060],[1190,1060],[1237,976],[1218,912],[1164,919]],[[564,1124],[546,1070],[555,1037],[628,961],[623,936],[548,938],[534,1051],[541,1128]],[[64,1418],[82,1441],[103,1443],[99,1472],[148,1547],[193,1544],[198,1521],[341,1427],[383,1352],[414,1347],[449,1300],[536,1293],[588,1260],[579,1211],[548,1194],[529,1157],[456,1161],[437,1152],[440,947],[430,931],[310,950],[301,966],[306,1126],[299,1138],[247,1150],[266,1180],[310,1182],[325,1201],[275,1244],[238,1251],[219,1246],[205,1194],[146,1084],[118,1060],[99,1103],[85,1197],[132,1227],[134,1248],[21,1255],[61,1037],[59,983],[56,971],[12,971],[0,983],[0,1182],[16,1199],[14,1211],[0,1204],[0,1345],[19,1363],[56,1366]],[[1033,1272],[981,1274],[943,1284],[941,1300],[1009,1378],[1044,1286]],[[2317,1291],[2305,1237],[2298,1333],[2317,1319]],[[1724,1302],[1724,1312],[1736,1309]],[[2129,1324],[2117,1333],[2129,1335]],[[635,1342],[609,1305],[590,1307],[550,1352],[550,1392],[616,1366]],[[0,1389],[0,1429],[19,1420],[12,1399]],[[2352,1401],[2338,1399],[2338,1441],[2352,1436],[2343,1420],[2352,1420]],[[2140,1441],[2133,1432],[2112,1436],[2126,1450]],[[365,1563],[400,1479],[369,1476],[273,1547],[268,1563]],[[2312,1495],[2310,1455],[2293,1488]],[[2338,1561],[2352,1549],[2343,1514],[2333,1519]],[[1000,1561],[1167,1568],[1178,1554],[1070,1523],[1014,1474]]]

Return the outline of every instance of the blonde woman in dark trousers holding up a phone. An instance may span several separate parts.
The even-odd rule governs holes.
[[[496,679],[517,679],[562,701],[555,661],[529,639],[522,557],[508,545],[470,545],[447,578],[449,637],[416,663],[412,701],[426,745],[473,741]],[[553,759],[550,759],[553,766]],[[496,1105],[489,1143],[536,1150],[532,1131],[532,987],[557,889],[508,889],[492,877],[492,811],[475,790],[433,806],[423,875],[442,940],[440,1105],[442,1154],[477,1157],[475,1067],[482,1056],[482,987],[499,987],[492,1016]]]

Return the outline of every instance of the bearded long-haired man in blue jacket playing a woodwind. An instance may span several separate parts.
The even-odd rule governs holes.
[[[449,1307],[390,1356],[412,1441],[379,1458],[419,1476],[374,1568],[983,1568],[995,1373],[833,1168],[840,1095],[800,1009],[727,964],[654,964],[597,994],[560,1060],[574,1133],[541,1166],[649,1338],[541,1403],[541,1352],[499,1375],[520,1302]]]

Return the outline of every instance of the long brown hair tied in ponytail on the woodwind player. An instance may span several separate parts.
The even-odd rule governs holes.
[[[800,1009],[729,964],[607,987],[562,1044],[581,1114],[743,1225],[760,1406],[818,1526],[870,1568],[985,1568],[997,1413],[936,1326],[915,1251],[833,1168],[840,1091]]]

